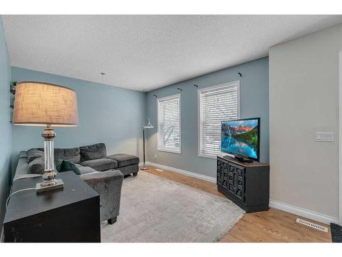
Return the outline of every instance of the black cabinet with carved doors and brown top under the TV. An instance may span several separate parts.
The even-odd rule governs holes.
[[[246,212],[268,210],[269,164],[218,156],[218,191]]]

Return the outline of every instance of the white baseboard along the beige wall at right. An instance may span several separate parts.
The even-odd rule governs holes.
[[[276,208],[279,210],[284,210],[285,212],[291,212],[294,215],[300,215],[302,217],[313,219],[314,221],[319,221],[321,223],[325,223],[330,225],[332,223],[339,223],[339,219],[330,217],[328,215],[324,215],[318,212],[314,212],[312,210],[306,210],[304,208],[300,208],[297,206],[291,206],[290,204],[285,204],[280,201],[269,200],[269,207]]]

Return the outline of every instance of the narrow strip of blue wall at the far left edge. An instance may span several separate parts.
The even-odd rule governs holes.
[[[10,123],[11,67],[0,18],[0,231],[5,216],[5,201],[10,189],[12,125]]]

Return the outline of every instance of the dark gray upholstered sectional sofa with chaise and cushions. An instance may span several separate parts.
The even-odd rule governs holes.
[[[124,175],[137,175],[139,158],[129,154],[107,156],[105,144],[75,148],[55,148],[55,160],[76,164],[79,177],[100,195],[101,221],[112,224],[120,210],[121,186]],[[14,180],[41,176],[44,173],[44,149],[33,148],[19,155]]]

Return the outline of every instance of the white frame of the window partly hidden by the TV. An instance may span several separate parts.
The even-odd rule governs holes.
[[[228,88],[228,87],[231,87],[231,86],[237,86],[237,119],[240,119],[240,81],[239,80],[236,80],[234,82],[228,82],[228,83],[224,83],[224,84],[219,84],[219,85],[215,85],[215,86],[209,86],[207,88],[200,88],[197,90],[197,110],[198,110],[198,115],[197,115],[197,126],[198,126],[198,145],[197,145],[197,148],[198,148],[198,157],[204,157],[204,158],[211,158],[211,159],[216,159],[216,156],[218,156],[219,154],[202,154],[201,153],[201,146],[202,146],[202,143],[201,143],[201,135],[202,135],[202,113],[201,113],[201,109],[202,109],[202,105],[200,103],[200,94],[202,92],[205,92],[205,91],[211,91],[211,90],[214,90],[214,89],[218,89],[218,88]],[[220,153],[223,155],[224,152],[220,151]]]

